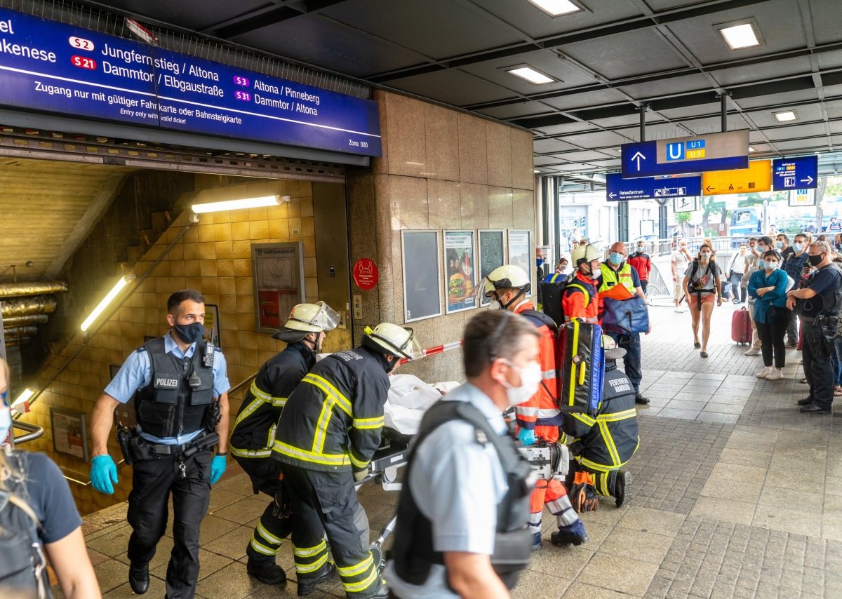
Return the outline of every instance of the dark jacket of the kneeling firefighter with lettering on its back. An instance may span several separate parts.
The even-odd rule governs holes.
[[[607,363],[600,413],[565,414],[562,430],[573,438],[570,453],[596,472],[621,468],[637,451],[637,412],[632,383],[616,363]]]

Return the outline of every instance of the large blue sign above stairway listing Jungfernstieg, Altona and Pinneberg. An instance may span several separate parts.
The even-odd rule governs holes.
[[[370,100],[5,8],[0,105],[381,156]]]

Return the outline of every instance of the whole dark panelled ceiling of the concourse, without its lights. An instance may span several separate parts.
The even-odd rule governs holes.
[[[723,93],[754,157],[842,151],[839,0],[577,3],[551,18],[528,0],[84,2],[529,128],[543,174],[616,171],[642,106],[647,139],[718,131]],[[744,19],[763,43],[729,50],[716,26]],[[521,65],[557,81],[506,72]]]

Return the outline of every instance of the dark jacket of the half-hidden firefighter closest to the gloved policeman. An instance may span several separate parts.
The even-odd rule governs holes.
[[[268,458],[272,454],[274,427],[287,398],[316,363],[316,353],[304,342],[286,349],[260,367],[237,412],[231,433],[232,455]]]

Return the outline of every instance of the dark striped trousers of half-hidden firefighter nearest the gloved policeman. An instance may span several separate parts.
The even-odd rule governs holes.
[[[290,536],[292,520],[289,506],[283,500],[280,462],[273,458],[241,458],[234,456],[252,480],[254,493],[265,493],[274,501],[266,506],[260,522],[254,527],[252,538],[248,542],[246,554],[259,564],[275,563],[275,555],[280,551],[280,543]],[[279,502],[280,497],[280,502]]]

